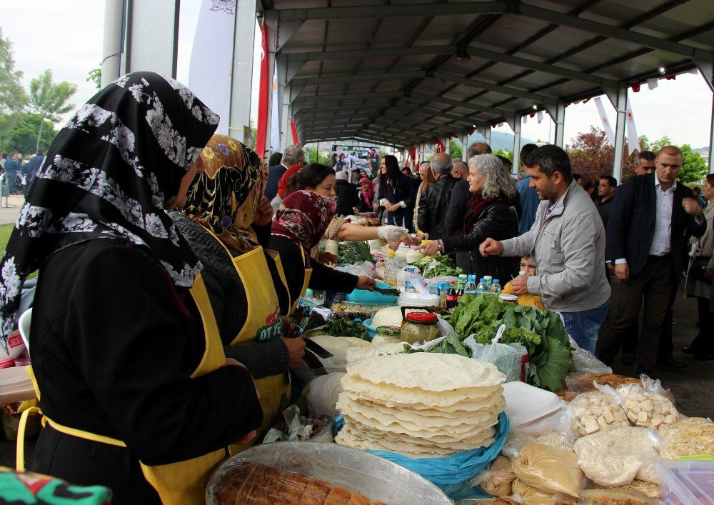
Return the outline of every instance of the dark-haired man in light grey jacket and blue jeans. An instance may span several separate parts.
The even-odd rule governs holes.
[[[558,146],[535,149],[531,187],[541,200],[529,231],[515,239],[483,241],[483,256],[531,254],[538,274],[513,280],[516,294],[538,294],[563,314],[565,329],[583,349],[595,351],[610,310],[605,279],[605,229],[590,196],[573,181],[568,154]]]

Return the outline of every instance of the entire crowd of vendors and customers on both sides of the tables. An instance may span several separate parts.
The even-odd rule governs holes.
[[[33,166],[0,261],[4,349],[23,283],[40,269],[29,351],[46,426],[31,470],[109,486],[117,504],[201,503],[216,464],[296,398],[291,374],[306,344],[286,338],[287,318],[306,289],[375,285],[328,268],[337,258],[319,252],[323,239],[427,233],[424,254],[509,281],[560,312],[583,349],[611,362],[623,347],[655,375],[678,366],[667,321],[692,238],[686,291],[698,299],[700,336],[684,351],[713,358],[714,177],[710,203],[695,199],[676,181],[673,146],[640,154],[643,174],[626,184],[603,176],[593,203],[557,146],[524,146],[519,181],[477,143],[466,163],[435,154],[418,176],[383,156],[352,184],[305,164],[300,146],[266,164],[217,125],[173,79],[128,74]],[[6,173],[22,168],[16,160]],[[358,211],[376,212],[379,226],[345,219]],[[598,338],[608,314],[613,329]]]

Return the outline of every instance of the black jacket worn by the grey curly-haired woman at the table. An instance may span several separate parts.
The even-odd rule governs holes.
[[[420,206],[421,208],[421,206]],[[471,274],[490,275],[501,281],[501,286],[518,275],[521,259],[518,257],[487,256],[478,252],[481,242],[491,237],[498,241],[518,236],[518,212],[516,206],[506,201],[494,201],[481,212],[473,229],[468,234],[443,238],[444,251],[468,251],[471,255]]]

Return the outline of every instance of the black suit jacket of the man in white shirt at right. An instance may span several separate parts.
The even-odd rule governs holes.
[[[655,174],[630,177],[615,191],[615,202],[608,221],[608,244],[605,259],[627,259],[630,275],[639,274],[650,254],[655,234],[657,195]],[[681,269],[685,234],[700,237],[706,231],[706,221],[697,223],[685,213],[682,199],[693,198],[691,189],[678,183],[672,204],[672,235],[670,250],[675,271]]]

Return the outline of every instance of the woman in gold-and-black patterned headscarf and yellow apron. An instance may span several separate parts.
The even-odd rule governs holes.
[[[205,170],[188,190],[183,213],[171,217],[203,264],[226,356],[256,379],[267,428],[287,405],[288,368],[298,369],[305,347],[301,337],[283,337],[276,289],[287,296],[286,287],[277,255],[261,247],[270,239],[273,215],[263,196],[268,169],[225,135],[213,135],[201,157]]]

